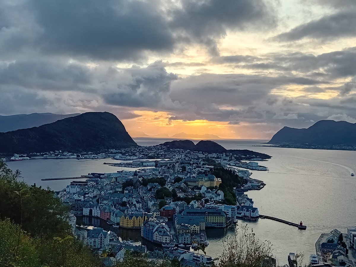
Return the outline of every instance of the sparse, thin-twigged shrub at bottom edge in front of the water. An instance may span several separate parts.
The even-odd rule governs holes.
[[[240,225],[232,236],[226,236],[222,246],[224,249],[217,263],[218,267],[271,266],[266,261],[272,257],[271,243],[260,243],[247,224]]]

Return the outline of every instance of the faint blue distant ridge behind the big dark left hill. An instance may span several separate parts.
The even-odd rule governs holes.
[[[0,115],[0,132],[16,131],[19,129],[27,129],[38,127],[43,124],[55,122],[80,115],[76,114],[53,114],[53,113],[32,113],[32,114],[17,114],[10,116]]]

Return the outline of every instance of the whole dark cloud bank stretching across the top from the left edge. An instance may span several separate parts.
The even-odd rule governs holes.
[[[165,7],[164,7],[165,6]],[[138,60],[189,43],[217,51],[226,30],[274,24],[263,1],[37,1],[0,3],[0,48],[94,60]]]

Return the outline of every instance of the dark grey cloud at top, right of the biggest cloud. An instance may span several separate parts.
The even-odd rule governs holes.
[[[273,12],[260,0],[182,0],[182,9],[172,11],[172,28],[182,31],[182,39],[203,43],[209,52],[219,54],[215,38],[227,29],[267,28],[276,23]]]

